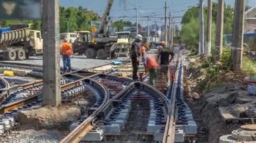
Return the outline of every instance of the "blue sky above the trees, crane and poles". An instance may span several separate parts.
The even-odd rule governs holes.
[[[78,7],[81,5],[84,8],[89,10],[94,10],[99,14],[104,13],[106,3],[108,0],[60,0],[61,6],[69,7],[75,6]],[[167,12],[171,12],[171,15],[175,18],[175,23],[179,25],[181,22],[181,17],[189,7],[193,7],[199,4],[199,0],[137,0],[138,1],[138,21],[143,26],[148,24],[146,16],[152,15],[152,18],[149,19],[149,23],[152,24],[156,21],[158,25],[164,23],[164,2],[167,2]],[[203,0],[204,5],[207,6],[207,0]],[[213,0],[214,2],[218,0]],[[228,5],[234,6],[235,0],[225,0],[225,3]],[[254,6],[256,5],[256,0],[246,0],[247,5]],[[114,0],[113,7],[110,11],[110,18],[115,21],[119,19],[136,21],[135,11],[136,0]],[[126,17],[124,17],[126,16]]]

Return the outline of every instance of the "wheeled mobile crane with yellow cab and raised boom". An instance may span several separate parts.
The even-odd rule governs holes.
[[[89,31],[79,31],[77,39],[73,43],[73,51],[79,54],[86,54],[87,58],[117,58],[117,37],[108,36],[108,15],[114,0],[108,0],[106,10],[102,17],[100,29],[97,30],[94,38]]]

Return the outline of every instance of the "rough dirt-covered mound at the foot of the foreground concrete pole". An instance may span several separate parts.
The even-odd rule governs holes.
[[[79,116],[79,107],[41,107],[20,111],[17,118],[24,129],[66,130]]]

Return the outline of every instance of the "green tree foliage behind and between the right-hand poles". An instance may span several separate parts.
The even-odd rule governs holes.
[[[216,35],[216,20],[217,20],[217,9],[218,5],[213,3],[212,11],[212,53],[216,54],[215,49],[215,35]],[[230,5],[225,5],[224,8],[224,34],[232,34],[233,24],[233,11]],[[204,8],[204,19],[205,19],[205,34],[207,27],[207,9]],[[181,42],[187,44],[189,50],[198,52],[198,41],[199,41],[199,7],[191,7],[183,15],[181,23],[183,24],[181,30]],[[206,35],[205,35],[206,36]]]

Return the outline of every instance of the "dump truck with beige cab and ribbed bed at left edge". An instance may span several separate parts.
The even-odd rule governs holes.
[[[40,31],[30,30],[32,24],[12,24],[0,28],[0,58],[2,60],[24,60],[34,54],[42,54]]]

